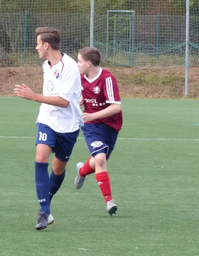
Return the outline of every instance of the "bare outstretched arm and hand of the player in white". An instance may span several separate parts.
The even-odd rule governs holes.
[[[15,85],[14,91],[17,96],[23,99],[34,100],[52,106],[67,108],[67,106],[70,104],[70,101],[63,99],[60,96],[51,97],[33,93],[33,91],[26,84]]]

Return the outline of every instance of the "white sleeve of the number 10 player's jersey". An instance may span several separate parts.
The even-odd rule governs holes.
[[[74,91],[76,88],[78,75],[79,74],[74,67],[67,67],[63,69],[59,95],[61,98],[68,100],[69,102],[71,101],[71,98],[74,95]]]

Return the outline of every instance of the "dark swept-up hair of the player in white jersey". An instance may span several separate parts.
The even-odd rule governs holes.
[[[51,45],[52,49],[59,50],[60,49],[60,33],[55,28],[45,27],[45,28],[37,28],[36,35],[39,36],[42,42],[47,42]]]

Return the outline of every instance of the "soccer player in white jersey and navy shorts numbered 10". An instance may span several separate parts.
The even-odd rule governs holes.
[[[40,211],[36,230],[54,221],[50,211],[52,196],[65,178],[65,167],[83,125],[79,98],[81,78],[76,61],[60,52],[60,34],[54,28],[37,28],[36,50],[43,65],[43,95],[33,93],[25,84],[15,86],[17,96],[41,102],[36,120],[35,184]],[[54,153],[49,177],[49,156]]]

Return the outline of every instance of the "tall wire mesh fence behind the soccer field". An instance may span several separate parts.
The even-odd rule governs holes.
[[[190,0],[190,66],[199,65],[197,1]],[[90,1],[1,0],[0,4],[0,64],[3,67],[40,63],[35,54],[35,29],[40,26],[59,29],[61,51],[73,58],[79,48],[90,46]],[[107,15],[107,10],[131,13]],[[184,67],[186,0],[95,1],[93,14],[93,45],[100,49],[103,65]]]

